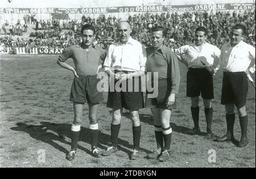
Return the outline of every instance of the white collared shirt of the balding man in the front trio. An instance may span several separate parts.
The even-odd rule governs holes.
[[[104,67],[105,71],[110,67],[114,67],[115,70],[145,71],[146,61],[146,49],[140,42],[130,37],[126,44],[115,42],[109,46]]]

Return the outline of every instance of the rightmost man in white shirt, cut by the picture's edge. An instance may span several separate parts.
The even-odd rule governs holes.
[[[245,33],[246,28],[243,25],[235,25],[230,33],[230,42],[222,46],[220,56],[221,67],[224,69],[221,104],[225,105],[227,133],[216,141],[234,140],[234,106],[236,105],[242,133],[238,143],[239,147],[245,147],[249,143],[247,139],[246,96],[248,81],[246,72],[254,73],[255,71],[255,48],[242,41]],[[249,68],[251,60],[254,60],[254,66]]]

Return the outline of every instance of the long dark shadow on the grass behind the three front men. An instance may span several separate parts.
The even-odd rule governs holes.
[[[62,147],[60,144],[57,144],[55,141],[59,141],[61,143],[71,145],[71,143],[67,142],[63,137],[64,135],[68,138],[71,138],[71,125],[66,123],[51,123],[51,122],[40,122],[40,123],[42,125],[27,125],[27,123],[18,122],[16,123],[17,125],[16,127],[11,127],[11,130],[26,132],[32,138],[36,140],[40,140],[44,143],[48,143],[54,148],[56,148],[56,150],[59,150],[67,154],[68,150]],[[53,131],[55,134],[51,133],[51,131]],[[88,128],[81,126],[79,141],[90,144],[90,130]],[[101,133],[101,131],[99,131],[98,147],[106,150],[106,147],[102,146],[102,144],[104,144],[105,146],[109,146],[110,135]],[[119,144],[118,150],[126,152],[127,154],[130,155],[130,152],[133,149],[133,146],[129,144],[129,142],[118,138],[118,144]],[[131,150],[127,150],[122,146],[130,148]],[[79,148],[82,151],[85,151],[89,155],[92,155],[92,152],[87,148],[84,148],[80,145],[77,145],[77,148]],[[147,154],[150,153],[150,151],[145,150],[143,148],[141,150],[143,152],[146,152]]]

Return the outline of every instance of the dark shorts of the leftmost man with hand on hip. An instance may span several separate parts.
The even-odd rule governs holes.
[[[70,101],[75,101],[78,103],[99,103],[104,100],[103,93],[98,92],[97,83],[100,79],[97,79],[97,75],[84,76],[77,74],[79,78],[75,77],[73,79]]]

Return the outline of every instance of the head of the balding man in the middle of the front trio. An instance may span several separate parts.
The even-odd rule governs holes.
[[[117,24],[117,33],[118,33],[119,41],[122,44],[126,44],[126,42],[130,38],[130,24],[126,21],[119,22]]]

